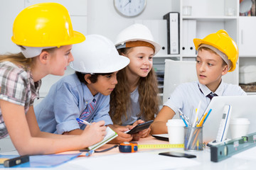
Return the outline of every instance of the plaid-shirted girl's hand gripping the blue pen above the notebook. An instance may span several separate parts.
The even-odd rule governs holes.
[[[87,144],[86,147],[102,141],[107,133],[106,128],[104,120],[87,125],[82,132],[82,136],[84,137],[83,141],[86,141],[85,143]]]

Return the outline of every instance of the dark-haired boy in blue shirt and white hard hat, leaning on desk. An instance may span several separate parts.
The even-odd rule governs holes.
[[[39,128],[44,132],[78,135],[86,127],[76,120],[80,118],[89,123],[104,120],[117,133],[129,130],[114,128],[108,113],[117,72],[129,64],[129,59],[120,56],[114,43],[102,35],[87,35],[84,42],[73,46],[73,56],[70,67],[75,74],[53,84],[35,108]],[[132,135],[125,137],[132,140]]]

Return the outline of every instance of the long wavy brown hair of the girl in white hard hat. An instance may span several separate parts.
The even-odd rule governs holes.
[[[126,54],[129,48],[119,49],[119,54]],[[130,107],[130,86],[125,68],[117,73],[118,84],[110,95],[110,116],[114,124],[122,125],[122,116],[127,118]],[[146,77],[140,77],[138,82],[139,91],[139,117],[146,121],[154,120],[155,114],[159,112],[159,93],[156,74],[151,69]]]

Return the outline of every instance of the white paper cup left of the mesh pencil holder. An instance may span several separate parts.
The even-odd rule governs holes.
[[[184,123],[180,119],[171,119],[166,123],[168,128],[169,143],[183,144],[184,143]]]

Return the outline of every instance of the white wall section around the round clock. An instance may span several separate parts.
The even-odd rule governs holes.
[[[120,16],[113,0],[88,0],[87,6],[87,33],[105,35],[114,42],[117,34],[135,20],[162,19],[171,11],[171,0],[147,0],[143,13],[134,18]]]

